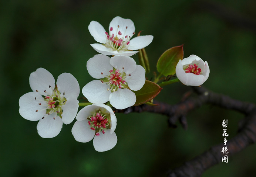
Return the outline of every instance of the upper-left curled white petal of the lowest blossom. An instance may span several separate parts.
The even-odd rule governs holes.
[[[98,104],[87,105],[82,108],[78,113],[76,119],[78,121],[86,120],[89,116],[93,115],[96,111],[99,110]]]

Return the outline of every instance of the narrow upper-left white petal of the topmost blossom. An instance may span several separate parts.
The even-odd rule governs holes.
[[[101,44],[106,43],[106,30],[102,27],[102,25],[97,21],[91,21],[88,29],[94,38],[95,41],[100,42]]]

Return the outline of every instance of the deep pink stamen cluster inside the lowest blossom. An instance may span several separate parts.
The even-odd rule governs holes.
[[[105,115],[100,114],[100,112],[98,112],[96,114],[96,116],[92,116],[91,119],[88,121],[88,124],[91,125],[91,130],[96,130],[97,128],[101,128],[102,129],[102,133],[105,134],[105,131],[103,129],[106,129],[108,124],[108,119],[104,118]],[[96,136],[100,136],[100,133],[96,133]]]

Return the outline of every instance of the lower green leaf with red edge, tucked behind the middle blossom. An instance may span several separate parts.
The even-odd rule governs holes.
[[[134,91],[136,95],[136,102],[134,106],[138,106],[152,100],[160,93],[161,90],[162,88],[158,86],[158,84],[146,80],[141,90]]]

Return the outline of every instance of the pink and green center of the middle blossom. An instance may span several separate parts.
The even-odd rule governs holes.
[[[124,69],[124,67],[122,68]],[[111,69],[110,74],[105,78],[101,79],[102,83],[108,84],[110,86],[111,92],[117,91],[117,89],[128,88],[125,81],[126,74],[125,72],[120,72],[119,69]]]

